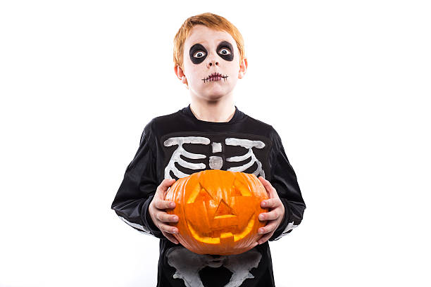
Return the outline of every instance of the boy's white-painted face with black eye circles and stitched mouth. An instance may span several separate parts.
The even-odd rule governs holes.
[[[229,33],[196,25],[184,44],[184,70],[175,72],[180,79],[185,75],[182,82],[192,94],[214,101],[230,94],[243,77],[246,59],[239,64],[237,43]]]

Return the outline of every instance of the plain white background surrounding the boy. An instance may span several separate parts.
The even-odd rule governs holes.
[[[307,209],[277,286],[430,286],[428,1],[1,1],[0,286],[156,286],[111,203],[153,117],[189,104],[173,37],[245,39],[235,105],[282,137]]]

